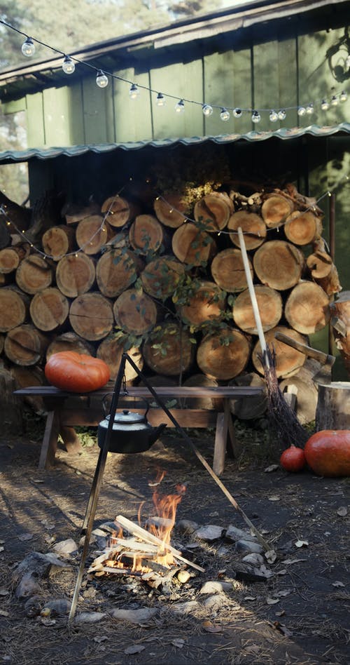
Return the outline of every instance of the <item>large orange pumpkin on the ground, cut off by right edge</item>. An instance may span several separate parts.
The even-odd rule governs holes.
[[[310,436],[304,453],[307,464],[318,476],[350,476],[350,430],[323,429]]]

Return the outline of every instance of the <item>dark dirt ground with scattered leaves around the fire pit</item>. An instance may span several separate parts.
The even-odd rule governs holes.
[[[239,430],[239,428],[237,428]],[[189,432],[190,433],[190,432]],[[190,433],[212,462],[214,435]],[[27,598],[16,597],[16,567],[29,553],[48,553],[55,542],[80,539],[80,529],[97,464],[97,445],[81,455],[59,450],[50,470],[38,471],[39,436],[7,436],[0,441],[0,661],[10,664],[182,665],[210,663],[345,664],[350,640],[350,478],[318,478],[309,471],[267,472],[262,433],[241,434],[242,457],[228,459],[221,480],[276,551],[263,581],[238,579],[242,554],[223,537],[198,540],[173,530],[172,542],[205,572],[173,588],[151,589],[136,578],[93,577],[85,572],[77,614],[102,612],[97,623],[70,626],[67,615],[28,616]],[[91,443],[91,442],[90,442]],[[244,520],[189,449],[172,432],[139,455],[109,453],[97,504],[96,525],[117,514],[137,520],[151,509],[153,481],[166,471],[161,492],[186,485],[179,520],[198,525],[234,525]],[[191,544],[191,543],[190,543]],[[96,546],[95,546],[96,549]],[[92,547],[93,550],[93,547]],[[36,600],[71,599],[80,552],[71,567],[39,579]],[[190,570],[190,568],[188,568]],[[224,581],[218,603],[204,602],[205,582]],[[214,598],[215,600],[215,598]],[[189,603],[176,611],[179,603]],[[156,608],[135,624],[111,617],[111,610]],[[180,606],[181,607],[181,606]],[[190,608],[189,611],[188,607]]]

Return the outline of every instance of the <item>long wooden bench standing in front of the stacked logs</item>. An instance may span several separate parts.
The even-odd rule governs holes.
[[[113,392],[114,385],[107,384],[102,389],[85,394],[62,391],[53,386],[35,386],[14,391],[18,396],[40,396],[47,410],[45,431],[38,463],[39,469],[45,469],[55,461],[57,441],[62,436],[67,452],[79,452],[81,444],[74,426],[97,426],[104,418],[103,400]],[[209,428],[215,427],[213,469],[220,476],[225,466],[226,448],[237,457],[239,449],[235,438],[235,429],[230,412],[230,399],[256,397],[262,388],[251,386],[223,387],[157,387],[156,394],[167,405],[167,401],[193,398],[215,398],[221,403],[220,410],[169,408],[172,416],[181,427]],[[135,403],[130,403],[134,398]],[[153,408],[155,398],[146,387],[130,387],[127,396],[120,394],[118,410],[128,408],[130,411],[143,412],[144,402],[137,403],[137,398],[146,399],[151,403],[147,419],[153,426],[161,422],[169,427],[176,425],[162,408]],[[135,408],[136,407],[136,408]]]

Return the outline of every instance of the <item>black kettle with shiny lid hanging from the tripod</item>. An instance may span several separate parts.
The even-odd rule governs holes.
[[[107,397],[107,395],[105,397]],[[158,427],[153,427],[148,422],[147,413],[149,410],[149,404],[146,400],[144,401],[147,404],[147,408],[143,415],[129,411],[128,409],[116,412],[111,431],[111,439],[109,441],[109,452],[144,452],[151,448],[151,445],[153,445],[153,443],[155,443],[160,437],[160,434],[162,434],[162,431],[167,425],[162,423],[158,425]],[[104,441],[106,440],[106,434],[109,428],[109,419],[110,416],[106,415],[104,420],[99,423],[97,429],[97,443],[99,448],[104,447]]]

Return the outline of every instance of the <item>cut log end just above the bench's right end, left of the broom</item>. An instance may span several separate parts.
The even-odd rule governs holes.
[[[246,368],[251,344],[239,330],[223,328],[206,335],[197,349],[197,364],[207,376],[227,381],[241,374]]]

